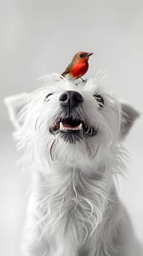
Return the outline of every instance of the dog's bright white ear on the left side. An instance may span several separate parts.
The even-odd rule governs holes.
[[[9,118],[16,129],[19,129],[23,121],[18,119],[18,113],[26,105],[28,94],[17,94],[6,97],[4,103],[7,106]]]

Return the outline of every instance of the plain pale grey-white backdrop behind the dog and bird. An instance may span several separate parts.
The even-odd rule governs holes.
[[[142,114],[143,1],[4,0],[0,18],[0,255],[20,256],[30,173],[21,176],[16,165],[19,155],[3,99],[38,88],[36,78],[62,72],[74,53],[85,50],[94,53],[85,77],[107,69],[102,85]],[[142,132],[141,116],[125,140],[131,160],[119,192],[143,241]]]

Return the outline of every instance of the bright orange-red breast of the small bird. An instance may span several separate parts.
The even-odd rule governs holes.
[[[73,75],[75,78],[80,78],[87,71],[88,71],[88,61],[74,64],[69,73]]]

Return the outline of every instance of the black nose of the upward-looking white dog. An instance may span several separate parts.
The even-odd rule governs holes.
[[[76,108],[84,100],[82,95],[77,91],[64,91],[59,99],[62,106],[69,108]]]

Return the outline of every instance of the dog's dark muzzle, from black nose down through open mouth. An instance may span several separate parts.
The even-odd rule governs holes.
[[[50,127],[50,133],[60,134],[64,140],[71,143],[97,134],[98,129],[90,126],[85,116],[78,114],[78,109],[82,108],[84,102],[84,98],[79,92],[64,91],[59,97],[59,101],[61,115],[55,118],[53,127]]]

